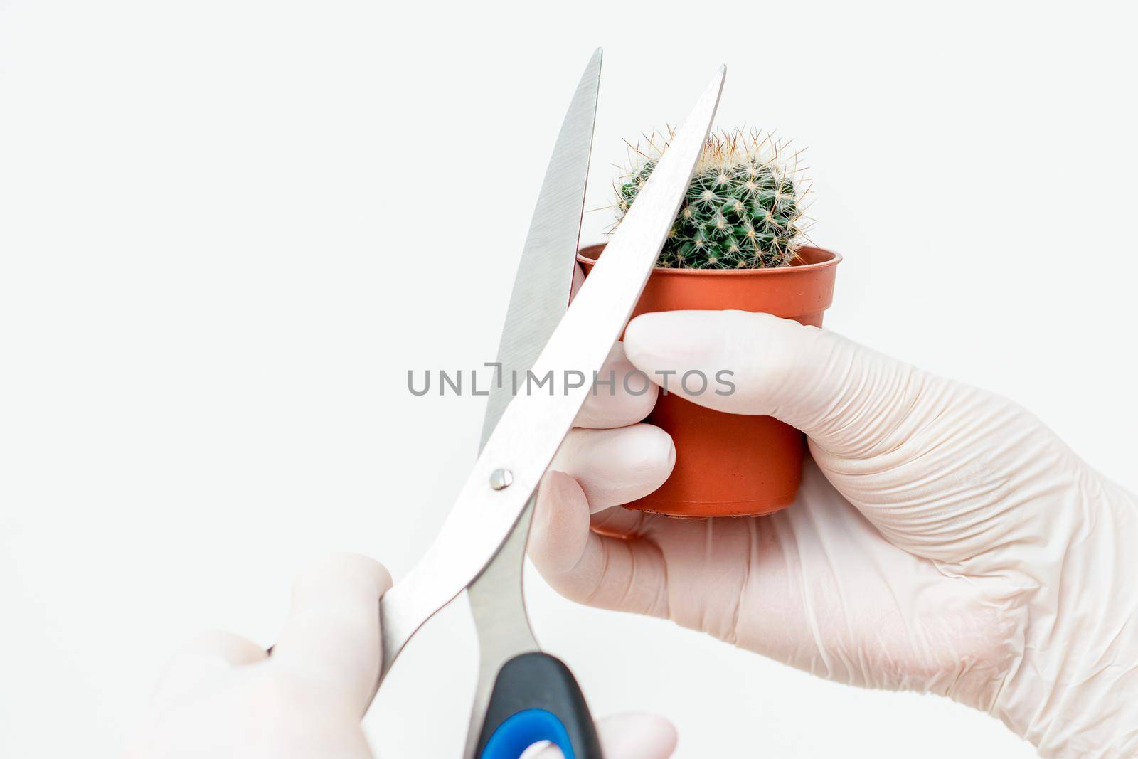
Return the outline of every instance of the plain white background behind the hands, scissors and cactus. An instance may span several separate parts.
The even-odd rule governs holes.
[[[679,121],[808,147],[827,324],[1014,396],[1138,486],[1133,17],[1092,2],[0,0],[0,756],[115,756],[165,657],[269,644],[310,556],[398,577],[472,460],[549,150],[604,46],[588,207]],[[586,216],[597,240],[608,212]],[[1028,757],[987,716],[863,692],[536,576],[594,711],[677,756]],[[475,643],[445,614],[366,726],[454,757]]]

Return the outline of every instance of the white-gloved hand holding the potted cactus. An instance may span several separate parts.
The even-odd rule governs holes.
[[[691,399],[803,430],[813,461],[785,511],[677,520],[612,508],[667,478],[666,434],[575,430],[530,537],[563,595],[843,683],[947,695],[1045,757],[1138,754],[1138,505],[1030,413],[765,314],[646,314],[610,361],[674,380],[731,370],[733,395]],[[653,402],[601,393],[583,426]]]

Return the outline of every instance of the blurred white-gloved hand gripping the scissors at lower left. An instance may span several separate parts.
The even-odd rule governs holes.
[[[167,667],[130,756],[370,759],[360,718],[379,674],[377,604],[390,586],[378,562],[335,555],[297,580],[271,657],[228,633],[190,644]],[[597,732],[610,759],[667,759],[676,744],[652,715],[602,719]]]

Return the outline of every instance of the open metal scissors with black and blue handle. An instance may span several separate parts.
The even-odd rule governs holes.
[[[526,539],[538,481],[592,387],[567,374],[595,379],[628,321],[703,151],[725,75],[720,67],[707,85],[570,305],[601,77],[601,50],[593,53],[530,221],[481,452],[434,543],[380,600],[377,691],[419,628],[469,593],[480,661],[465,759],[518,759],[541,741],[558,745],[566,759],[602,759],[577,682],[530,630],[521,586]],[[527,371],[538,380],[552,372],[550,390],[516,394],[513,378]]]

